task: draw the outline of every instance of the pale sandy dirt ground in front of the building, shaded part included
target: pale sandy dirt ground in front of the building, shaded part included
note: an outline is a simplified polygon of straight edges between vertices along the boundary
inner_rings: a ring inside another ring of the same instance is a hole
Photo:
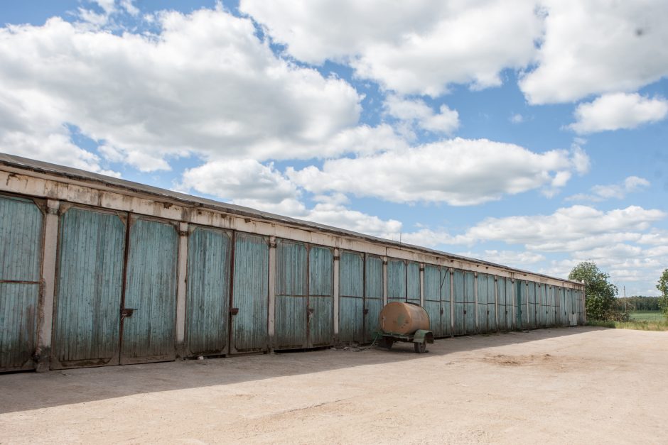
[[[668,443],[668,332],[0,375],[0,443]]]

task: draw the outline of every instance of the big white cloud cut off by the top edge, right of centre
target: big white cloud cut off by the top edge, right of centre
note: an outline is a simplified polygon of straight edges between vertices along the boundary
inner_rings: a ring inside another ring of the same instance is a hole
[[[239,9],[299,60],[348,62],[385,89],[432,97],[453,83],[500,85],[501,70],[532,61],[542,32],[526,0],[244,0]]]

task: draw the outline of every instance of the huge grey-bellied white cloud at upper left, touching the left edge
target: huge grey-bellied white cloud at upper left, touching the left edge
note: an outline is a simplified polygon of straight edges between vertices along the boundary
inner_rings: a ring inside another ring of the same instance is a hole
[[[361,97],[350,84],[276,57],[247,18],[203,9],[158,20],[158,35],[60,18],[0,28],[0,113],[15,116],[1,125],[0,150],[38,153],[58,135],[64,163],[81,166],[65,123],[143,170],[191,153],[267,160],[348,150],[327,142],[352,137]]]

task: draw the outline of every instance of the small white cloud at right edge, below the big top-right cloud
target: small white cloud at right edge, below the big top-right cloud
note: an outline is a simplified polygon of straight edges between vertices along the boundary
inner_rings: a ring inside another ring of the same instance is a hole
[[[643,123],[661,121],[667,114],[666,99],[650,99],[637,93],[610,93],[579,104],[574,113],[576,122],[569,127],[576,133],[632,129]]]

